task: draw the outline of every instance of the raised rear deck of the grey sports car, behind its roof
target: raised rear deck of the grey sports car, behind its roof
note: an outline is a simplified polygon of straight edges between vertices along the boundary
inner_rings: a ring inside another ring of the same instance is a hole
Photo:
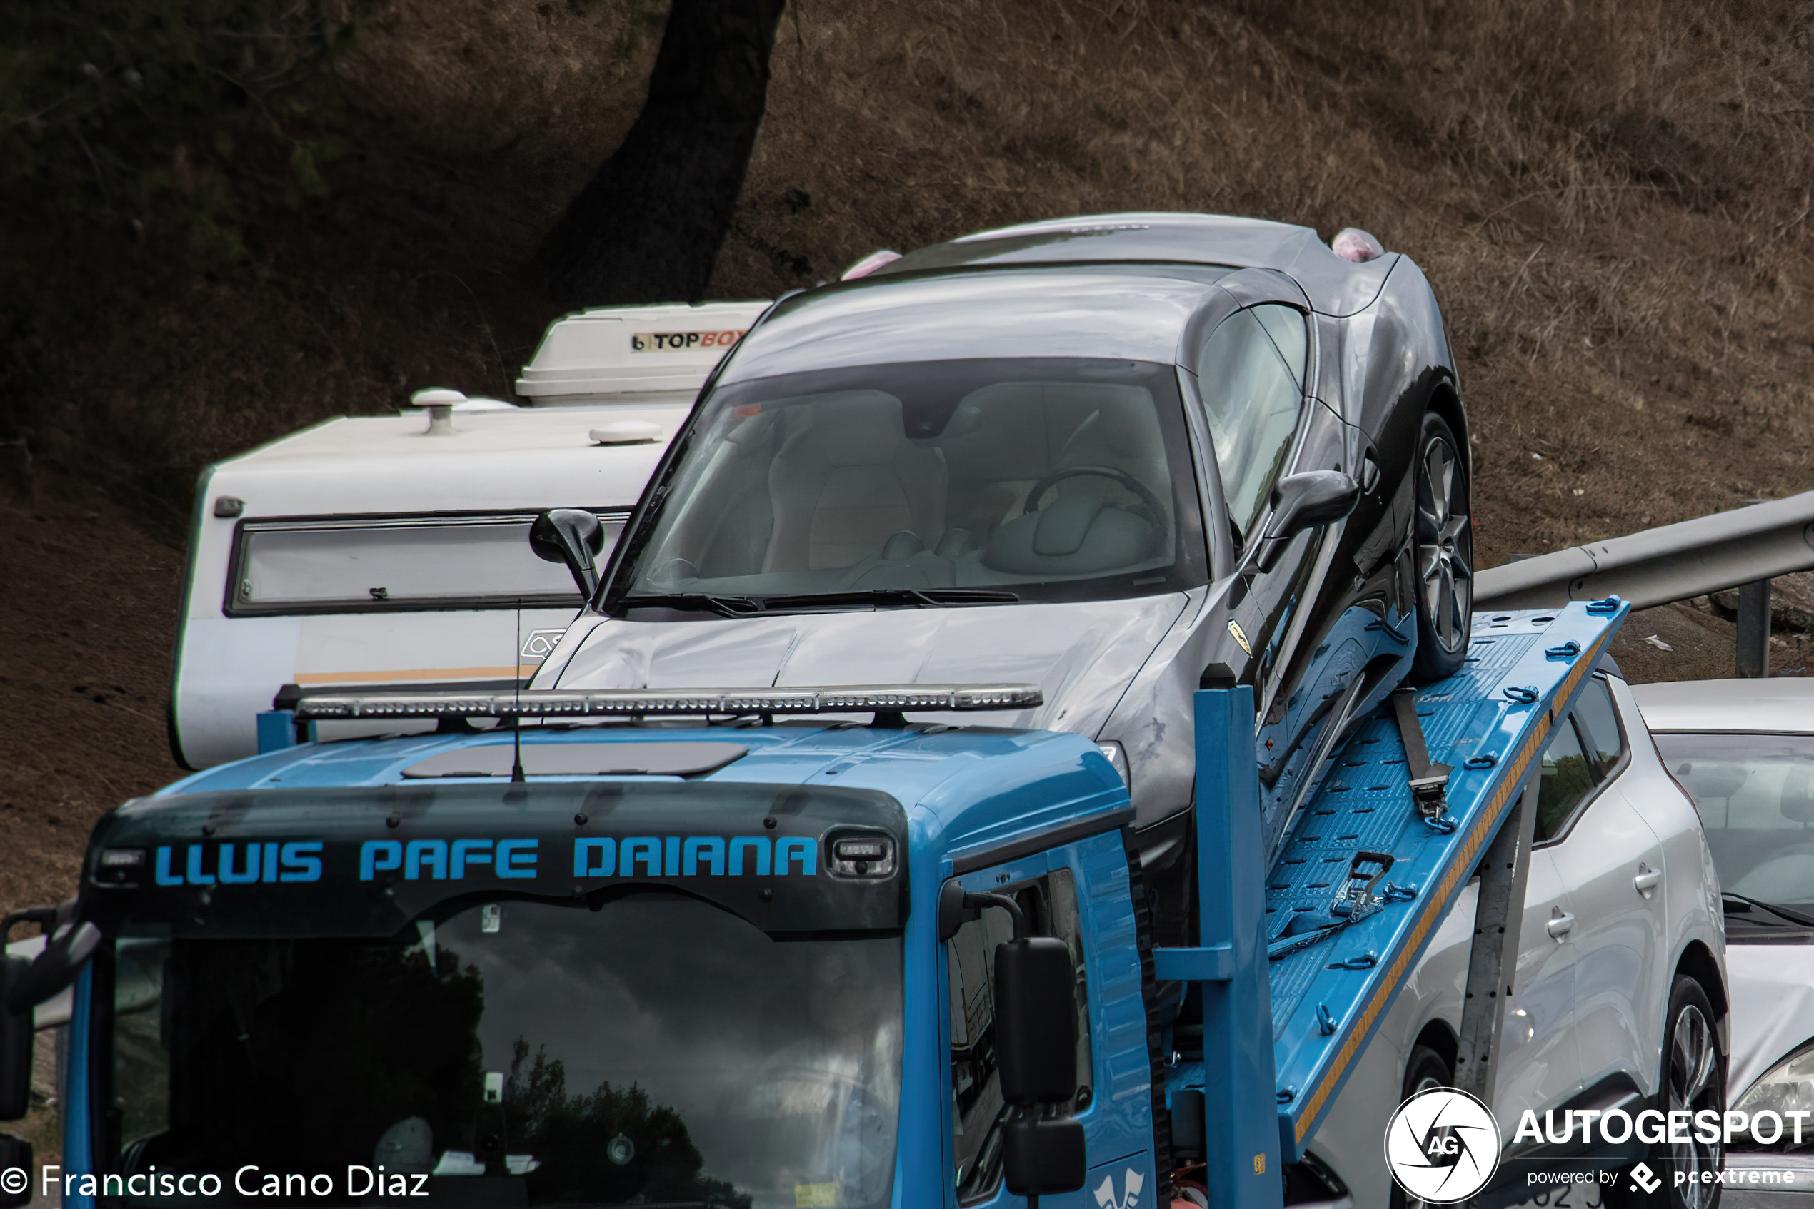
[[[1313,310],[1351,315],[1371,303],[1399,263],[1388,252],[1346,261],[1310,227],[1228,214],[1128,212],[1021,223],[936,243],[878,270],[878,277],[929,268],[1034,263],[1146,263],[1275,268],[1304,290]]]

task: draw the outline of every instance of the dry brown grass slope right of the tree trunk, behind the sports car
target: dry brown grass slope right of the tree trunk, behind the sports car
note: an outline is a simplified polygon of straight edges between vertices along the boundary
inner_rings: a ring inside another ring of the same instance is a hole
[[[1444,301],[1487,556],[1549,549],[1814,486],[1810,85],[1792,4],[807,0],[717,286],[1065,212],[1368,227]]]

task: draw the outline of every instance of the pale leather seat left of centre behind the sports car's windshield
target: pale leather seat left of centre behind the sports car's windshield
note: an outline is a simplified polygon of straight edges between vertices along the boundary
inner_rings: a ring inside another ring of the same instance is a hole
[[[847,567],[909,531],[925,546],[945,531],[945,459],[912,442],[902,404],[882,392],[847,392],[807,404],[769,466],[775,531],[764,571]]]

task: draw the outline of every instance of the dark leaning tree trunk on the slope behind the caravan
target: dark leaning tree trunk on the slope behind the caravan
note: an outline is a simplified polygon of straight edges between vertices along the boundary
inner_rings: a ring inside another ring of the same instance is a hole
[[[551,297],[704,297],[762,125],[784,4],[673,0],[642,114],[542,245]]]

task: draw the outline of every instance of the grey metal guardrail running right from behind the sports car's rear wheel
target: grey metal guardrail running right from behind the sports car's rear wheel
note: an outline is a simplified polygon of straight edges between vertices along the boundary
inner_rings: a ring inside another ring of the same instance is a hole
[[[1475,609],[1558,609],[1618,595],[1633,609],[1814,569],[1814,491],[1475,573]]]

